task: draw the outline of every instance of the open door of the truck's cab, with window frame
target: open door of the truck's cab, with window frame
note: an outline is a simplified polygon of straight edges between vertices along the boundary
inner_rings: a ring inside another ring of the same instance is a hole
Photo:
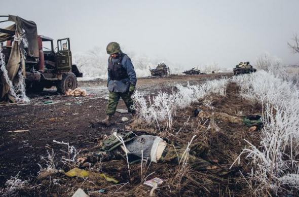
[[[71,71],[71,52],[69,38],[57,40],[56,65],[57,72]]]

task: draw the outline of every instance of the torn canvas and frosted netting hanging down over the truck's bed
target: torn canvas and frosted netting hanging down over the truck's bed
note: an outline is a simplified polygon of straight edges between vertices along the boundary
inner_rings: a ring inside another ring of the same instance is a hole
[[[18,16],[9,15],[9,21],[15,24],[5,29],[15,31],[15,34],[0,33],[0,41],[5,42],[13,38],[12,46],[6,48],[10,50],[10,55],[5,61],[5,55],[1,47],[1,101],[28,102],[25,93],[25,59],[26,56],[39,58],[38,31],[33,21],[26,21]]]

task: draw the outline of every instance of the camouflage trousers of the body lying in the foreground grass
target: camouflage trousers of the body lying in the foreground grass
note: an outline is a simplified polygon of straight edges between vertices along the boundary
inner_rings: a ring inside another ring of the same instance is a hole
[[[170,162],[170,163],[182,163],[184,161],[184,151],[187,145],[173,146],[173,144],[167,146],[167,153],[162,156],[159,162]],[[193,143],[190,145],[190,151],[188,156],[188,163],[193,169],[199,171],[209,171],[211,173],[224,175],[226,174],[223,169],[218,166],[211,164],[207,160],[202,159],[209,155],[209,148],[203,143]]]

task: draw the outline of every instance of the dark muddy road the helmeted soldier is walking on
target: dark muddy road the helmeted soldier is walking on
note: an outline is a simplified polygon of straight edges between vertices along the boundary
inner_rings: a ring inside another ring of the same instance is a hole
[[[155,95],[158,91],[171,93],[176,84],[196,85],[223,76],[230,77],[232,73],[140,78],[137,90],[144,95]],[[41,94],[28,94],[30,103],[0,104],[0,187],[18,173],[22,179],[36,176],[41,156],[46,155],[46,146],[57,146],[53,140],[84,149],[94,146],[100,134],[128,124],[121,122],[121,117],[130,119],[130,115],[117,112],[110,127],[91,127],[90,122],[105,117],[106,81],[79,82],[79,87],[86,89],[90,96],[65,97],[50,89]],[[46,101],[51,103],[44,104]],[[125,109],[123,101],[118,108]],[[17,130],[25,131],[13,132]]]

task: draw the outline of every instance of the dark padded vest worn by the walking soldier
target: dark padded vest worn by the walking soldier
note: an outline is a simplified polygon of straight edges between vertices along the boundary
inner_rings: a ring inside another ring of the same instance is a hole
[[[110,80],[123,80],[124,78],[128,78],[127,70],[122,66],[121,62],[123,60],[123,57],[126,54],[121,53],[121,55],[118,57],[118,60],[116,62],[112,61],[112,57],[109,57],[109,63],[108,63],[108,71]]]

